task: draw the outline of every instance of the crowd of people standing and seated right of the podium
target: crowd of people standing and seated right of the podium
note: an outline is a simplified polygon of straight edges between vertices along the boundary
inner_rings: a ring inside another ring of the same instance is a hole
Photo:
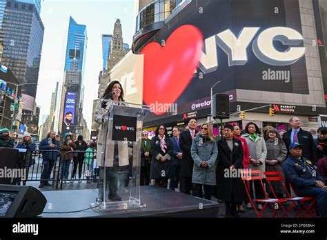
[[[164,125],[158,126],[151,140],[143,131],[141,185],[154,179],[155,186],[179,188],[209,200],[214,196],[226,204],[226,217],[239,217],[244,206],[250,210],[252,205],[241,177],[226,176],[226,172],[260,170],[266,189],[260,180],[248,181],[251,199],[265,199],[266,194],[283,199],[293,186],[293,194],[317,199],[320,216],[327,217],[327,128],[311,134],[301,128],[298,117],[289,123],[288,131],[266,126],[261,133],[250,122],[243,134],[239,126],[226,124],[222,137],[213,135],[211,123],[202,124],[198,132],[197,119],[190,119],[186,130],[172,128],[171,138]],[[271,182],[272,192],[264,172],[280,172],[284,181]],[[256,208],[263,206],[258,202]]]

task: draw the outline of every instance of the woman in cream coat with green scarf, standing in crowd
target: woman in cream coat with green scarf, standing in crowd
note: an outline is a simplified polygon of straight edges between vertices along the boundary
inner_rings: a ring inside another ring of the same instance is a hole
[[[261,176],[264,176],[264,171],[266,170],[266,156],[267,148],[266,141],[262,137],[261,132],[257,124],[250,122],[246,124],[245,134],[242,135],[248,143],[248,151],[250,152],[250,166],[251,170],[261,170]],[[261,187],[259,180],[250,181],[250,196],[253,199],[253,187],[255,186],[255,199],[264,199],[265,195]],[[251,205],[248,203],[247,208],[251,208]],[[262,205],[258,204],[257,208],[262,209]]]

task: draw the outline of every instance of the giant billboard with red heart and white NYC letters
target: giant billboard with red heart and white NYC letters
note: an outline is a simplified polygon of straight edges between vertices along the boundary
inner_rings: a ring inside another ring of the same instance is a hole
[[[231,102],[236,90],[309,94],[305,53],[299,1],[192,1],[139,50],[137,82],[149,106],[175,103],[178,114],[206,115],[217,81],[214,93]]]

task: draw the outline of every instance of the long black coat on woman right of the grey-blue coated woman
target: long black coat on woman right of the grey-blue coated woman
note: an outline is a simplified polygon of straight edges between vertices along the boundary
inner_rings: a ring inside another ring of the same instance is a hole
[[[235,166],[237,170],[243,169],[243,146],[239,139],[232,139],[233,148],[227,145],[226,139],[220,139],[218,145],[218,166],[217,166],[217,199],[232,201],[232,194],[235,202],[248,201],[244,183],[240,177],[230,176],[230,166]],[[230,154],[231,157],[230,157]]]

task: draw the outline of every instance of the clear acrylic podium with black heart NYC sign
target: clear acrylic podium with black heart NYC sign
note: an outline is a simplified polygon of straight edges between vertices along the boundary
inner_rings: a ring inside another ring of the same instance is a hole
[[[126,210],[141,204],[141,132],[148,106],[108,101],[103,119],[103,141],[99,166],[99,192],[90,207],[95,211]],[[98,157],[99,158],[99,157]]]

